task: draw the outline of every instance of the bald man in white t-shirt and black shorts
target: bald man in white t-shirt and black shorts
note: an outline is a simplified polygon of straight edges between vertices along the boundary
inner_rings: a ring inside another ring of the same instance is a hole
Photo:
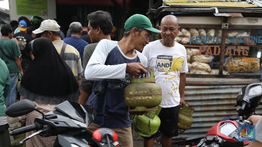
[[[172,137],[178,136],[179,109],[185,104],[187,55],[185,47],[174,41],[180,30],[175,16],[163,17],[159,30],[162,39],[150,42],[142,53],[147,57],[147,66],[154,68],[156,83],[162,88],[159,130],[163,134],[162,146],[171,147]],[[153,147],[154,137],[143,137],[144,147]]]

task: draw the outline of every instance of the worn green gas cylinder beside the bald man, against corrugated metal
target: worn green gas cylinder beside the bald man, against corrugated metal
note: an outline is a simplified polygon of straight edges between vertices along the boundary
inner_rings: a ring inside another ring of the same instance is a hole
[[[178,116],[178,131],[184,133],[185,130],[188,130],[192,123],[193,118],[192,114],[194,112],[194,108],[189,107],[189,104],[183,105],[183,107],[179,110]]]

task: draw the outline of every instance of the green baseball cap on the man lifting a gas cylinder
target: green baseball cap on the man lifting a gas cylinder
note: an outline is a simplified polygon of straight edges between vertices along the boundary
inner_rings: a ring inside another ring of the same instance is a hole
[[[125,32],[132,30],[134,27],[149,30],[152,35],[161,33],[160,30],[153,28],[150,20],[146,16],[141,14],[134,14],[125,21]]]

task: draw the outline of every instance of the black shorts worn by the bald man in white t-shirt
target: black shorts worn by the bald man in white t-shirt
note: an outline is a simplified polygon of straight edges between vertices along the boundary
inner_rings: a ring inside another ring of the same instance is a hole
[[[180,105],[171,108],[162,108],[158,117],[161,120],[159,131],[167,137],[178,136],[178,115]],[[156,136],[157,133],[150,137],[143,137],[144,139],[151,139]]]

